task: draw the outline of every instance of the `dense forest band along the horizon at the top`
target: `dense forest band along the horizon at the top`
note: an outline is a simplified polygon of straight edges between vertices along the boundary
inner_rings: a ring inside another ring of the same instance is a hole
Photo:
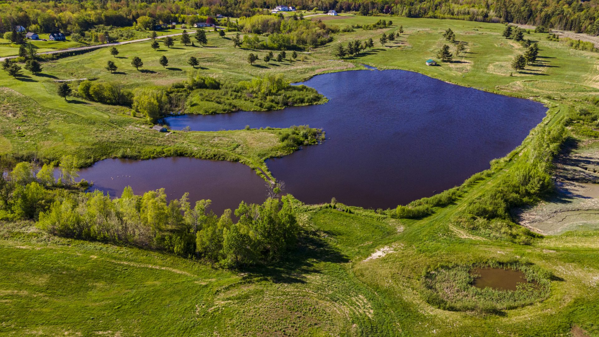
[[[0,31],[16,25],[29,31],[62,31],[80,34],[98,25],[131,26],[138,17],[148,16],[156,22],[185,22],[222,14],[250,17],[274,8],[274,0],[187,0],[160,2],[140,1],[14,1],[0,4]],[[358,11],[362,15],[390,15],[461,19],[480,22],[515,22],[599,34],[599,0],[293,0],[288,5],[298,9]]]

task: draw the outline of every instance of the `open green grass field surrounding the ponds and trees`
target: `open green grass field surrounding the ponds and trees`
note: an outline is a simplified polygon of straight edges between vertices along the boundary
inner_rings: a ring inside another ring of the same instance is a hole
[[[324,22],[344,26],[379,19],[337,16]],[[546,34],[525,34],[539,42],[541,62],[516,74],[509,64],[524,49],[501,37],[503,25],[391,19],[390,28],[335,34],[332,43],[314,49],[305,62],[249,65],[247,55],[256,51],[233,48],[229,38],[234,33],[228,32],[226,38],[208,33],[208,47],[176,44],[154,51],[149,43],[136,43],[119,47],[119,58],[100,49],[45,63],[43,76],[28,74],[19,80],[2,73],[0,87],[10,89],[0,93],[5,102],[0,152],[99,154],[87,158],[94,161],[169,155],[169,149],[177,148],[201,158],[213,152],[226,154],[221,159],[255,166],[263,166],[266,157],[285,154],[277,152],[279,130],[150,133],[124,108],[66,103],[55,94],[52,82],[97,77],[128,88],[169,85],[186,77],[190,67],[185,61],[191,55],[200,60],[202,73],[232,81],[284,73],[295,82],[318,73],[359,69],[360,64],[418,71],[458,85],[541,101],[549,108],[543,125],[562,124],[568,110],[576,107],[573,98],[599,94],[599,54],[544,40]],[[400,41],[380,46],[380,35],[400,25],[405,31]],[[426,66],[426,59],[435,58],[438,47],[446,43],[441,33],[447,28],[467,43],[466,53],[456,58],[459,62]],[[362,56],[343,61],[332,56],[335,44],[370,37],[375,47]],[[266,53],[257,52],[261,57]],[[161,55],[168,57],[168,68],[176,69],[162,68]],[[143,69],[150,72],[131,67],[132,56],[142,58]],[[123,74],[104,70],[109,59]],[[16,128],[26,137],[17,136]],[[515,166],[534,135],[501,170],[420,220],[391,219],[358,207],[350,207],[354,212],[350,214],[298,204],[304,228],[299,248],[288,263],[269,268],[230,272],[160,252],[60,239],[39,232],[29,222],[2,224],[0,334],[599,336],[597,231],[567,232],[518,245],[477,236],[450,222]],[[227,140],[211,142],[222,138]],[[423,271],[485,261],[540,266],[555,275],[549,297],[501,315],[479,315],[437,309],[420,296]]]

